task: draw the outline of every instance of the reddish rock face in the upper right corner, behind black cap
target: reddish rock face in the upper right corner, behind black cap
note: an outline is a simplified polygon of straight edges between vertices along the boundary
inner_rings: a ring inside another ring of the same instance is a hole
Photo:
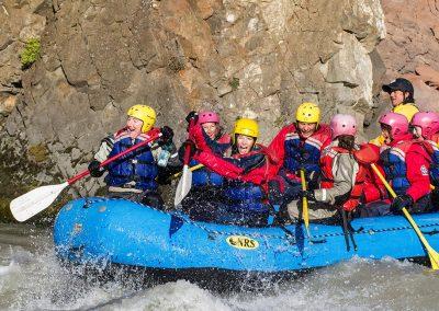
[[[376,50],[386,67],[383,82],[409,79],[416,104],[439,111],[439,0],[383,0],[387,35]],[[381,110],[389,96],[381,94]]]

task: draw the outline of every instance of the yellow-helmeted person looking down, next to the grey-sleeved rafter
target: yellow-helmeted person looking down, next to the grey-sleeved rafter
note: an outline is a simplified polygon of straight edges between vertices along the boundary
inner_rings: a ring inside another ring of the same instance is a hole
[[[302,191],[301,170],[305,172],[308,188],[318,187],[320,152],[330,141],[329,126],[320,124],[320,110],[316,104],[301,104],[295,119],[294,124],[282,128],[268,147],[270,154],[277,154],[279,164],[279,176],[269,182],[270,203],[280,206],[280,215],[286,218],[286,205],[299,199]]]

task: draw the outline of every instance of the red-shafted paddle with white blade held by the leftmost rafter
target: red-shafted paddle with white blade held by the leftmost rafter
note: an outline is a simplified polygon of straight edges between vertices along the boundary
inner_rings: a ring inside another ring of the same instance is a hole
[[[99,166],[100,168],[105,166],[110,162],[113,162],[119,158],[125,156],[126,153],[130,153],[133,150],[136,150],[137,148],[156,140],[160,136],[161,134],[157,130],[156,133],[153,133],[153,136],[149,139],[144,140],[137,145],[134,145],[133,147],[126,149],[125,151],[110,159],[106,159]],[[72,185],[74,183],[76,183],[77,181],[89,174],[90,171],[86,170],[61,184],[37,187],[29,193],[25,193],[24,195],[14,198],[10,204],[12,216],[18,221],[25,221],[30,219],[31,217],[37,215],[38,212],[49,207],[52,203],[58,197],[58,195],[63,192],[64,188],[66,188],[69,185]]]

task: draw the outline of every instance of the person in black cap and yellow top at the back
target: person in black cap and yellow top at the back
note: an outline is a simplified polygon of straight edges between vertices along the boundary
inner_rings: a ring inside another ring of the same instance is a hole
[[[402,114],[410,122],[413,116],[419,112],[419,108],[415,105],[415,90],[407,79],[397,78],[391,83],[384,84],[382,90],[390,96],[393,113]],[[384,145],[384,137],[380,135],[370,142],[380,147]]]

